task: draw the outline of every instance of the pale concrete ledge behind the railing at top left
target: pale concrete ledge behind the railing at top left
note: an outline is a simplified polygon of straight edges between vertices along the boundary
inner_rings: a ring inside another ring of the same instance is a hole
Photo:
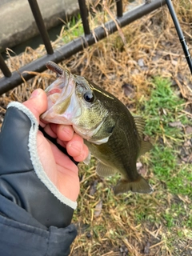
[[[38,0],[46,29],[78,13],[78,0]],[[38,34],[28,1],[0,0],[0,52]]]

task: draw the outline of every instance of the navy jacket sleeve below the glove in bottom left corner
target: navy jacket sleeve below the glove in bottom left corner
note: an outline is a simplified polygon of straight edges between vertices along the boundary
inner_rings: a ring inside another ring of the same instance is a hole
[[[47,228],[26,210],[0,195],[0,255],[1,256],[66,256],[77,231]]]

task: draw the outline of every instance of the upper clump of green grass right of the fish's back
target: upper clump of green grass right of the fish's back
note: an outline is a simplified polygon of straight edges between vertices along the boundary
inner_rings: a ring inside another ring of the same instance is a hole
[[[182,122],[185,125],[189,122],[184,114],[181,115],[185,101],[174,93],[168,79],[154,78],[153,86],[150,100],[143,102],[145,110],[142,114],[147,120],[146,133],[178,141],[182,139],[181,129],[170,127],[169,123]]]

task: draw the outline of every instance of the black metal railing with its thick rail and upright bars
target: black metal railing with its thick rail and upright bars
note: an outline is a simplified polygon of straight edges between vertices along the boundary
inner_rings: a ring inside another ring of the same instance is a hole
[[[123,14],[122,0],[118,0],[116,2],[116,20],[118,22],[118,26],[123,27],[130,24],[130,22],[134,22],[136,19],[141,18],[146,14],[149,14],[153,10],[158,9],[159,7],[164,5],[166,1],[167,0],[154,0],[152,2],[138,6],[134,10],[130,10]],[[36,0],[28,0],[28,2],[30,4],[31,11],[34,14],[34,19],[38,26],[39,33],[42,36],[42,40],[46,47],[47,54],[42,56],[42,58],[38,58],[37,60],[30,62],[30,64],[27,64],[26,66],[22,66],[19,70],[12,73],[10,72],[8,66],[6,66],[6,62],[0,54],[0,68],[2,70],[2,73],[4,74],[4,77],[0,79],[0,94],[3,94],[6,91],[20,85],[23,82],[23,78],[27,81],[30,78],[34,77],[34,74],[26,72],[23,73],[23,71],[42,72],[46,70],[46,62],[62,62],[62,60],[64,60],[65,58],[69,58],[73,54],[78,53],[78,51],[93,45],[96,42],[95,38],[98,42],[118,30],[115,22],[113,20],[110,20],[110,22],[106,22],[104,26],[98,26],[96,29],[94,29],[93,34],[90,31],[90,25],[88,21],[89,12],[86,8],[86,0],[78,0],[84,35],[82,37],[74,39],[72,42],[67,43],[65,46],[61,46],[57,50],[53,50],[50,43],[49,35],[47,34],[46,27],[42,19],[41,11],[38,7],[38,2]]]

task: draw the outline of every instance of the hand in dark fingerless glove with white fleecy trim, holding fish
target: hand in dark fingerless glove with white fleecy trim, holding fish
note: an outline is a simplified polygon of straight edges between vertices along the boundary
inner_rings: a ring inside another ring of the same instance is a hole
[[[89,150],[72,126],[41,122],[46,109],[41,89],[23,104],[7,106],[0,132],[0,200],[3,195],[11,207],[22,207],[22,213],[16,210],[20,217],[27,213],[46,227],[65,227],[77,207],[77,163]]]

